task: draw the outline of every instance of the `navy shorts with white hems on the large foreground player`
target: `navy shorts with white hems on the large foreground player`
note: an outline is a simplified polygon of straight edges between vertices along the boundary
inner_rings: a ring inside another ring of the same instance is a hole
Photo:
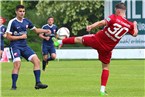
[[[11,47],[10,48],[13,62],[20,61],[20,57],[24,57],[26,60],[31,60],[30,57],[35,55],[35,52],[29,47]]]

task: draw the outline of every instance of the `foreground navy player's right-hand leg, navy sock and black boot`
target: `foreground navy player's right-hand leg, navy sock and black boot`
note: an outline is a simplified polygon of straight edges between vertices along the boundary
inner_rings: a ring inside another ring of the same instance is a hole
[[[48,85],[42,84],[40,81],[40,75],[41,75],[41,71],[40,71],[40,60],[37,57],[36,54],[31,55],[29,57],[29,60],[34,64],[34,76],[35,76],[35,80],[36,80],[36,85],[35,85],[35,89],[45,89],[48,87]]]

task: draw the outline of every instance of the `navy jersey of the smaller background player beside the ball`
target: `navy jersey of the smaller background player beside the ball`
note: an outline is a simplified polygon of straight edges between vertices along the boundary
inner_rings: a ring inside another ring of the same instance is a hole
[[[53,45],[52,37],[55,36],[56,31],[58,30],[57,26],[54,25],[54,24],[52,26],[50,26],[48,24],[45,24],[45,25],[42,26],[42,29],[49,29],[49,30],[51,30],[51,34],[50,35],[46,35],[45,33],[43,34],[44,36],[49,36],[50,37],[50,39],[48,41],[43,39],[43,45]]]

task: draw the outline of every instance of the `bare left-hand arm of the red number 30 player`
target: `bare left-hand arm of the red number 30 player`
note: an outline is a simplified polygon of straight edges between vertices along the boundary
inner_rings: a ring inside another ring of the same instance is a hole
[[[98,21],[98,22],[95,22],[94,24],[92,25],[88,25],[86,27],[87,31],[91,31],[92,29],[96,28],[96,27],[101,27],[101,26],[106,26],[106,21],[105,20],[101,20],[101,21]]]

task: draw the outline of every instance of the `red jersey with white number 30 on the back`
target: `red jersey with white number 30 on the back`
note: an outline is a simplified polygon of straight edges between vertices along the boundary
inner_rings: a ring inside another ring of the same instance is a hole
[[[106,51],[111,51],[126,33],[134,34],[133,23],[121,16],[112,14],[105,20],[107,26],[97,32],[95,37]]]

